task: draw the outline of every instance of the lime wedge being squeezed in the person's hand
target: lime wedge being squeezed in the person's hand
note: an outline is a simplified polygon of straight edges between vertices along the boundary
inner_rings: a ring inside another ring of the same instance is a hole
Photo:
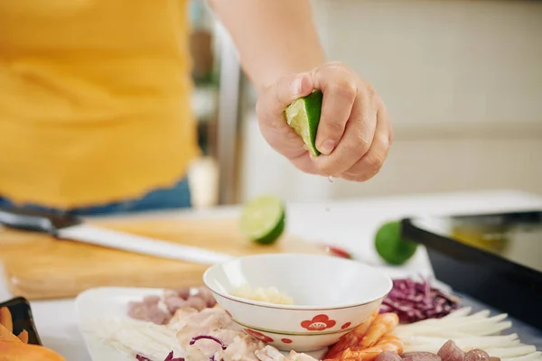
[[[322,98],[322,92],[314,90],[310,95],[296,99],[285,110],[286,122],[297,135],[301,136],[307,149],[314,156],[320,155],[315,142],[322,113]]]

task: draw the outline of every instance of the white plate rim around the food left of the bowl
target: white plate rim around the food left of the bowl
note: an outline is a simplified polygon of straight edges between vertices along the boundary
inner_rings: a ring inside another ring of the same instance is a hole
[[[96,329],[93,329],[96,327],[94,320],[103,317],[127,319],[129,301],[141,301],[147,295],[161,295],[163,292],[163,289],[156,288],[126,287],[100,287],[81,292],[75,300],[75,311],[79,330],[85,339],[92,361],[135,361],[134,356],[126,355],[115,347],[102,343],[95,334]],[[318,359],[323,356],[311,355]]]

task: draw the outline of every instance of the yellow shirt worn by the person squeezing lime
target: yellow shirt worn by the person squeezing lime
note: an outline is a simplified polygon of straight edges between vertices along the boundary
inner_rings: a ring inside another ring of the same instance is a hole
[[[0,197],[71,208],[198,153],[185,0],[0,1]]]

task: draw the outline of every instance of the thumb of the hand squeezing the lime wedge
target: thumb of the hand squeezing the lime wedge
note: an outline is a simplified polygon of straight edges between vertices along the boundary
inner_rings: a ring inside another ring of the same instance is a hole
[[[264,90],[259,98],[260,106],[263,106],[261,110],[268,115],[282,115],[286,106],[311,94],[313,87],[313,78],[308,72],[286,75]]]

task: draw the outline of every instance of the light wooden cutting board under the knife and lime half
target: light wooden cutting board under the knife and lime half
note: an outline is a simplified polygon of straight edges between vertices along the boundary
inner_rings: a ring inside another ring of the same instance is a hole
[[[233,249],[238,249],[239,252],[242,252],[242,254],[235,256],[268,253],[325,254],[319,245],[307,242],[303,237],[290,234],[287,231],[275,245],[255,248],[254,245],[247,244],[248,241],[244,237],[238,235],[237,227],[234,227],[231,219],[224,218],[211,219],[209,221],[201,220],[199,222],[192,222],[192,219],[184,219],[183,221],[175,219],[171,223],[164,220],[159,222],[151,220],[149,222],[148,220],[145,221],[145,219],[136,219],[134,225],[122,221],[120,225],[114,221],[99,223],[103,226],[110,226],[113,229],[125,228],[124,226],[126,225],[130,226],[126,228],[133,229],[134,231],[140,229],[142,232],[152,233],[152,230],[156,229],[158,234],[167,235],[168,232],[171,233],[173,241],[182,242],[183,239],[188,239],[189,242],[197,244],[198,240],[201,240],[201,245],[222,248],[221,251],[225,250],[224,245],[231,244]],[[137,232],[134,233],[137,234]],[[107,260],[102,268],[104,271],[97,272],[96,268],[99,267],[98,261],[87,263],[84,268],[81,268],[79,261],[73,259],[72,255],[76,255],[75,253],[79,255],[85,254],[88,250],[83,250],[84,247],[92,247],[93,250],[101,247],[80,244],[76,249],[72,247],[73,244],[71,243],[59,243],[58,245],[61,245],[62,250],[57,249],[57,247],[49,248],[47,246],[43,247],[43,249],[37,248],[39,251],[34,252],[34,254],[39,258],[31,260],[25,256],[33,254],[32,252],[28,252],[27,247],[32,246],[33,242],[41,242],[42,239],[49,239],[49,236],[24,231],[12,232],[12,230],[5,229],[0,229],[0,236],[4,236],[4,239],[0,238],[0,245],[10,245],[10,247],[15,245],[13,251],[0,256],[0,270],[4,271],[2,275],[5,278],[7,289],[14,295],[22,296],[32,301],[70,299],[76,297],[80,292],[107,286],[138,288],[201,286],[203,284],[203,273],[209,267],[209,265],[193,264],[192,266],[185,265],[177,269],[175,265],[169,263],[169,260],[168,265],[147,263],[143,258],[132,261],[124,259],[122,251],[107,250],[107,255],[104,254],[106,257],[104,260]],[[55,242],[59,241],[56,240]],[[277,244],[278,246],[276,246]],[[49,259],[49,252],[54,254],[51,255],[51,259]],[[117,255],[110,257],[113,252]],[[55,255],[59,258],[54,258]],[[96,253],[93,253],[93,256],[97,256]],[[98,256],[101,256],[101,254]],[[111,258],[114,258],[114,261],[111,261]],[[18,262],[17,259],[23,259],[23,261]],[[44,259],[49,260],[47,263],[44,263]],[[119,261],[118,267],[116,267],[117,259]],[[34,261],[38,263],[36,264]],[[67,261],[70,261],[70,263],[64,263]],[[135,265],[134,262],[136,263]],[[139,262],[141,262],[142,274],[139,274]],[[51,272],[49,272],[47,264],[50,264]],[[5,268],[6,265],[8,268]],[[152,271],[145,273],[145,267]],[[53,282],[51,282],[51,279]]]

